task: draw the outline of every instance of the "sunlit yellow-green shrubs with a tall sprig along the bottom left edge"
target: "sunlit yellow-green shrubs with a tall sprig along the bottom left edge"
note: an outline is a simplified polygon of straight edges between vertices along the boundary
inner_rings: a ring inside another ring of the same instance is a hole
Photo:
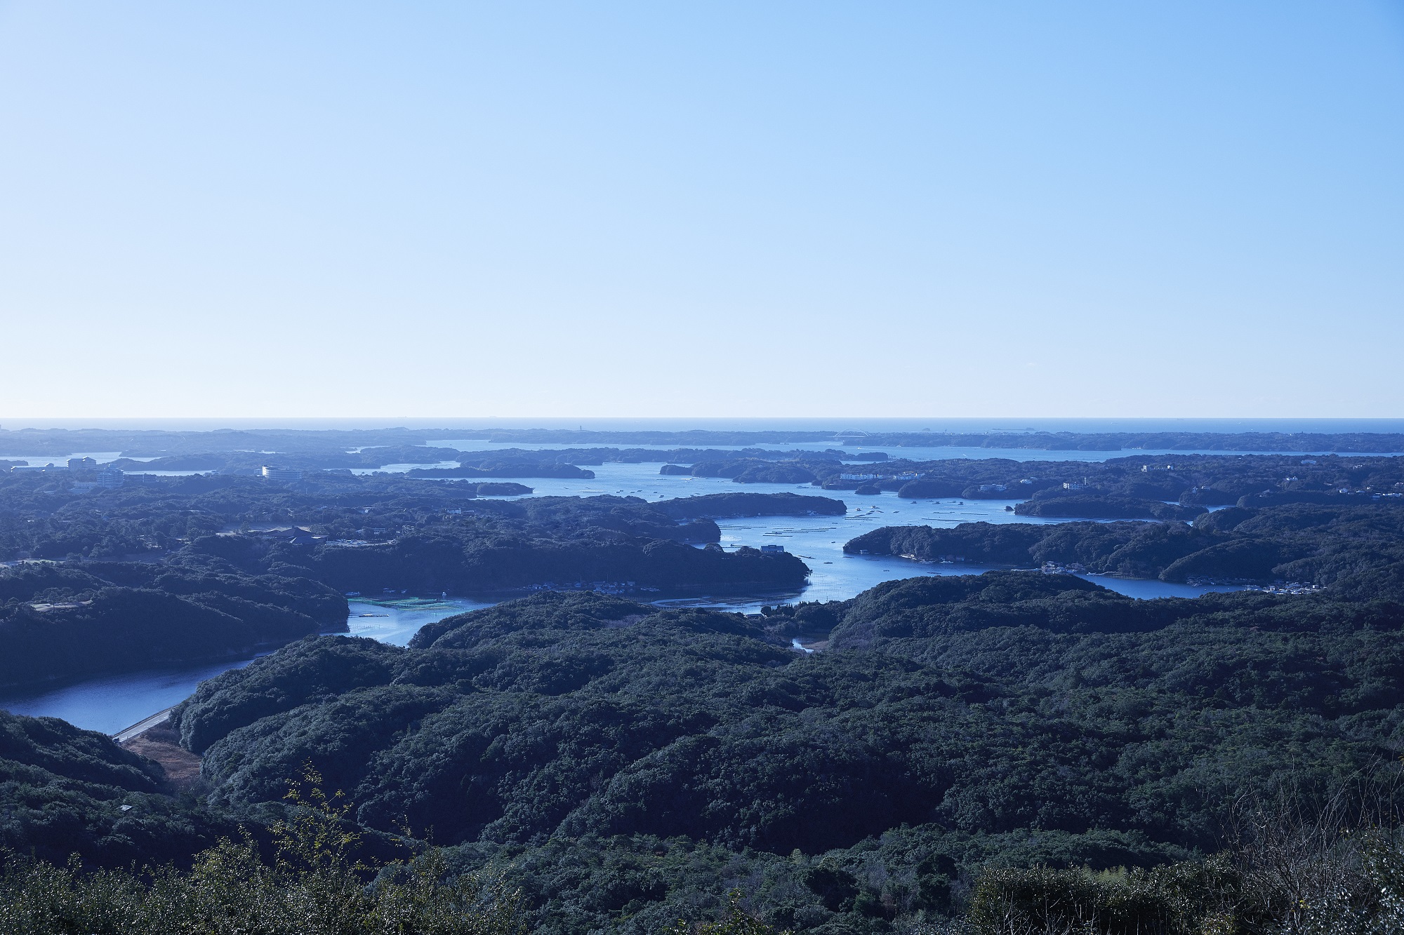
[[[4,935],[519,935],[519,893],[491,873],[446,879],[437,851],[371,868],[352,854],[348,804],[320,776],[291,783],[288,818],[265,862],[251,838],[223,840],[188,870],[87,872],[8,856]]]

